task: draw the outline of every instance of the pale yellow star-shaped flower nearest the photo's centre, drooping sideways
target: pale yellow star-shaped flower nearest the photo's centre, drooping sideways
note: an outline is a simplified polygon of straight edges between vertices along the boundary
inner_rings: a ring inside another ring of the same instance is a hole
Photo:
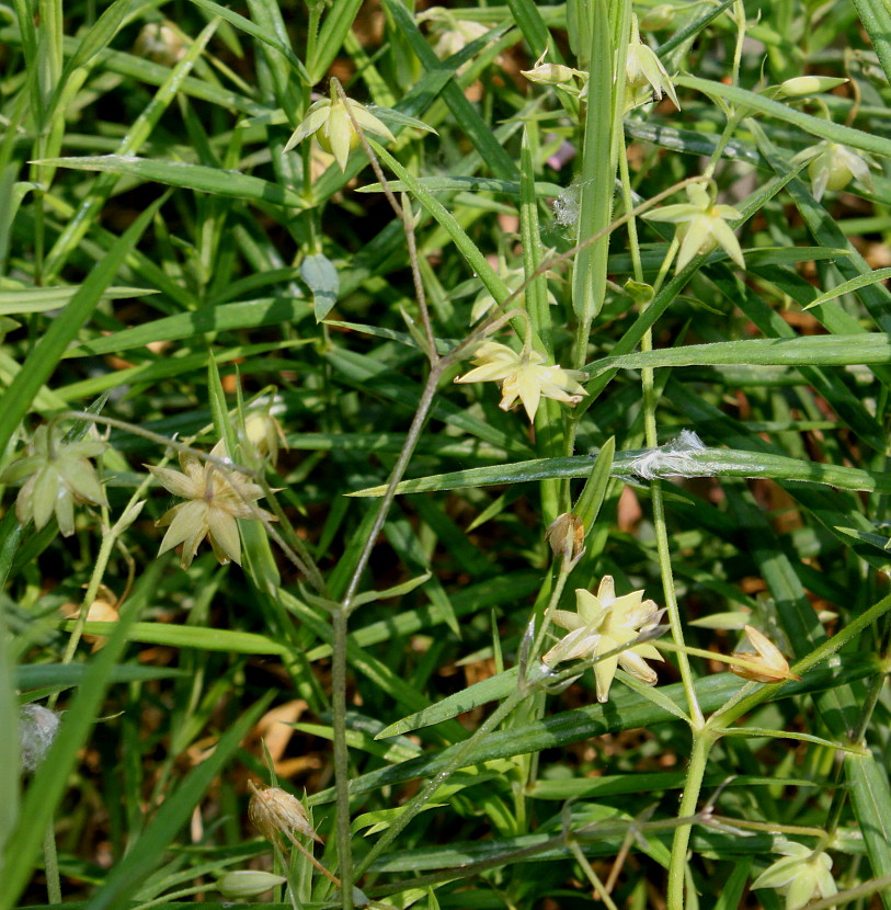
[[[578,405],[582,397],[587,395],[579,384],[579,379],[587,378],[585,373],[547,364],[544,354],[526,346],[517,354],[506,344],[487,341],[477,351],[471,363],[476,369],[458,376],[455,382],[501,383],[502,398],[499,407],[503,411],[510,410],[518,398],[529,421],[535,420],[542,396],[556,401],[566,401],[568,405]]]

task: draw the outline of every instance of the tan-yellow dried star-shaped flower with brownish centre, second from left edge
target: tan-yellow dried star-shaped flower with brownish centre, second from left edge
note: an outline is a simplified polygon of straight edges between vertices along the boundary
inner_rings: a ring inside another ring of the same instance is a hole
[[[219,452],[222,450],[216,448],[212,454]],[[198,544],[205,537],[221,564],[241,565],[241,538],[236,519],[274,521],[269,512],[254,505],[264,496],[262,487],[250,482],[243,474],[202,462],[190,453],[180,454],[182,471],[152,465],[146,467],[170,492],[189,500],[174,505],[157,522],[159,526],[170,525],[158,555],[182,544],[181,565],[184,569],[192,565]]]

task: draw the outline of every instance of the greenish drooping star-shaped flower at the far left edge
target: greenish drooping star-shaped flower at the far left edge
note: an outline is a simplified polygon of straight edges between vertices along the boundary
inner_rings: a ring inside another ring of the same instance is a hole
[[[57,429],[46,424],[34,431],[25,454],[0,475],[4,484],[28,479],[15,500],[15,516],[21,524],[34,519],[39,531],[55,512],[62,536],[75,533],[75,503],[107,505],[105,490],[95,468],[88,460],[105,450],[99,440],[65,442]]]

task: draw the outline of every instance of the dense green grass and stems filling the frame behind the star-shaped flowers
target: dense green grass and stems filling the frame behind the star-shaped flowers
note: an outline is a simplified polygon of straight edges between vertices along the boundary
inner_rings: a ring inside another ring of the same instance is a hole
[[[54,419],[108,441],[72,536],[19,523],[20,481],[2,500],[0,908],[214,906],[224,872],[273,867],[279,906],[362,905],[273,855],[249,781],[305,798],[375,906],[773,910],[752,885],[785,837],[827,850],[837,906],[891,907],[891,19],[636,3],[678,112],[625,110],[631,12],[0,5],[3,466]],[[586,98],[521,75],[546,49]],[[806,73],[849,81],[768,88]],[[330,76],[402,115],[375,110],[377,173],[283,151]],[[871,179],[815,198],[821,141]],[[704,173],[744,271],[719,248],[675,274],[671,224],[608,230]],[[453,384],[483,297],[499,342],[584,371],[581,403],[530,426]],[[682,430],[705,447],[647,476]],[[183,569],[144,466],[220,440],[278,521],[241,522],[241,568],[204,544]],[[569,511],[573,565],[545,538]],[[669,607],[659,685],[524,682],[551,645],[530,619],[604,576]],[[800,681],[711,657],[744,623]],[[27,703],[62,712],[34,773]]]

